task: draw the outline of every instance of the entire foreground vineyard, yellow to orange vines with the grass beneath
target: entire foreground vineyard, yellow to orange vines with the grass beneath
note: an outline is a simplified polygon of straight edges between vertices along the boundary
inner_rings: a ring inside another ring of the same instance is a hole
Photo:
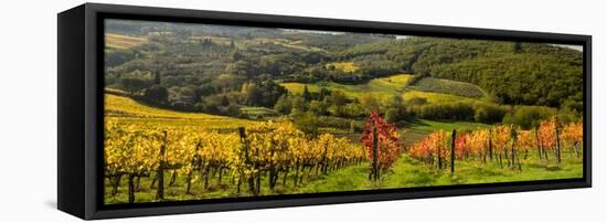
[[[134,106],[127,108],[150,114]],[[560,179],[579,174],[583,157],[582,124],[557,119],[532,130],[436,130],[404,145],[406,132],[379,113],[368,117],[360,142],[307,136],[290,123],[213,129],[131,118],[106,118],[107,203]]]

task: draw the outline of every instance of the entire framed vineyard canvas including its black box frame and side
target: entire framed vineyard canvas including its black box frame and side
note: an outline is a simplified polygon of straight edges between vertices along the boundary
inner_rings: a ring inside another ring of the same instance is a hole
[[[106,219],[589,188],[589,35],[86,3],[60,210]]]

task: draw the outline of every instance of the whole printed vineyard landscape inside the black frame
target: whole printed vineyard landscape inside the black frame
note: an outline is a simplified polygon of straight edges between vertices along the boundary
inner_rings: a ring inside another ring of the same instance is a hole
[[[583,51],[107,20],[104,203],[584,177]]]

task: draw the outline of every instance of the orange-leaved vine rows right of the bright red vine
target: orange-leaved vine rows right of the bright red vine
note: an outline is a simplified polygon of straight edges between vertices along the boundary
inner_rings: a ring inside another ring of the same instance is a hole
[[[456,161],[467,160],[480,163],[496,162],[500,168],[523,171],[522,162],[533,157],[562,162],[567,148],[569,157],[581,158],[583,127],[579,123],[563,126],[558,119],[544,120],[534,130],[520,130],[514,126],[498,125],[490,129],[478,129],[448,134],[435,131],[408,148],[408,155],[437,170],[449,168],[455,172]]]

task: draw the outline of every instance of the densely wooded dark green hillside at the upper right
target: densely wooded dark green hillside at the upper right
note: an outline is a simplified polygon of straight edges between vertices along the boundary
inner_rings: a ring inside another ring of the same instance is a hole
[[[341,60],[384,55],[407,73],[479,85],[501,104],[583,109],[578,103],[583,56],[572,49],[413,36],[360,44],[334,55]]]

